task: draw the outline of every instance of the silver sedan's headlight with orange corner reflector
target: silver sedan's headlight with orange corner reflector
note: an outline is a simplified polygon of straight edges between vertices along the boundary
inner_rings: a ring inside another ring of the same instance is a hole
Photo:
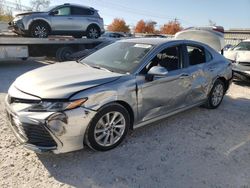
[[[71,110],[80,107],[87,101],[87,98],[78,99],[69,102],[46,102],[42,101],[39,104],[32,105],[28,111],[32,112],[59,112],[64,110]]]

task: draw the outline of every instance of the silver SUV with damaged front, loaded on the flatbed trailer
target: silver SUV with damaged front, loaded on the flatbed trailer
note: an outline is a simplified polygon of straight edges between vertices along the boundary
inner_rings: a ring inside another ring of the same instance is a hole
[[[19,35],[47,38],[48,35],[72,35],[98,38],[104,33],[103,19],[92,7],[63,4],[41,12],[17,14],[10,28]]]

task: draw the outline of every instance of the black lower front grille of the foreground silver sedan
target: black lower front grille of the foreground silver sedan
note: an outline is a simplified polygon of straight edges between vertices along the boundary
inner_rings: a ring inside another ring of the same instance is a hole
[[[11,126],[26,143],[41,147],[56,147],[57,144],[43,125],[24,124],[9,115]]]

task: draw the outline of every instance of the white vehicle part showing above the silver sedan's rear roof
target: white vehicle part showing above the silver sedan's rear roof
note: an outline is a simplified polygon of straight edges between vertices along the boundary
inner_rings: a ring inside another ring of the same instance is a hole
[[[225,46],[224,28],[221,26],[190,27],[176,33],[175,38],[202,42],[220,53]]]

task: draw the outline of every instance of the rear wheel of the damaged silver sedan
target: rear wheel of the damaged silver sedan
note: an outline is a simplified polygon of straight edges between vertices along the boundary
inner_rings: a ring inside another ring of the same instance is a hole
[[[218,108],[223,100],[225,91],[226,88],[224,82],[217,79],[208,95],[207,102],[204,106],[208,109]]]

